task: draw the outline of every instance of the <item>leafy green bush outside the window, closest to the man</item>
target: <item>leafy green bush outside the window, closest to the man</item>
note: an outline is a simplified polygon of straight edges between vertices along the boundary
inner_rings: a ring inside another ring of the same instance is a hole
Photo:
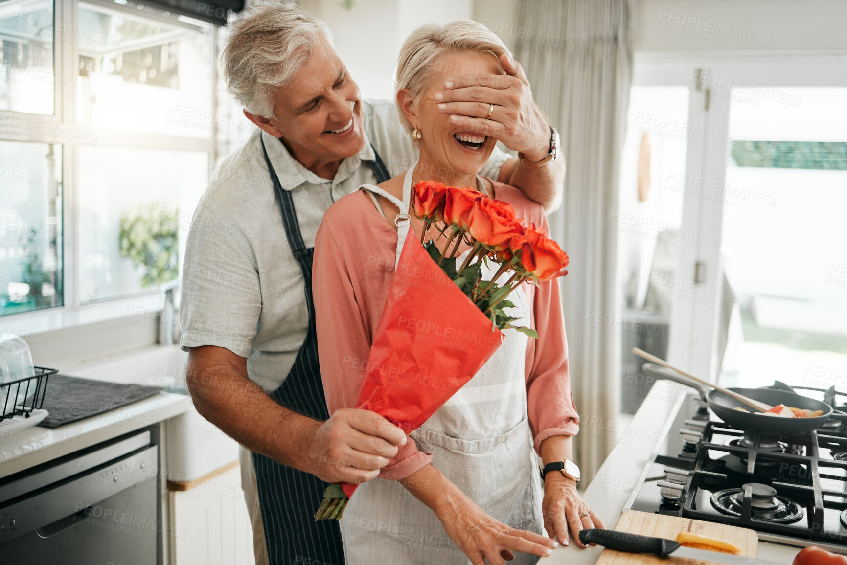
[[[164,204],[133,208],[120,217],[120,256],[143,266],[141,286],[161,285],[179,275],[179,209]]]

